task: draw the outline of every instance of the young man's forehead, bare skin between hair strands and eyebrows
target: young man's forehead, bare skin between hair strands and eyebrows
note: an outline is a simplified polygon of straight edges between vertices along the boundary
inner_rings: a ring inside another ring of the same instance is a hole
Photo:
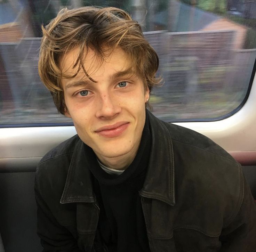
[[[82,67],[79,69],[79,64],[75,65],[79,56],[80,48],[75,48],[68,51],[60,60],[59,65],[63,75],[70,78],[74,74],[84,75]],[[100,57],[92,49],[83,55],[81,64],[86,73],[91,75],[104,75],[106,72],[104,66],[107,66],[107,72],[121,72],[132,67],[129,56],[121,48],[106,49],[104,57]]]

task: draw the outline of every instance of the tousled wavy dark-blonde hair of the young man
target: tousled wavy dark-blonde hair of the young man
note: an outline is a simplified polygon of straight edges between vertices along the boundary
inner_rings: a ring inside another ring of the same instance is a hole
[[[151,90],[161,81],[155,76],[159,65],[157,53],[145,40],[141,26],[121,9],[62,9],[46,27],[42,26],[42,32],[38,71],[62,114],[65,113],[66,107],[61,78],[74,77],[82,69],[93,81],[83,67],[88,49],[92,49],[103,61],[108,53],[106,48],[120,47],[128,55],[131,65],[136,67],[145,88],[149,87]],[[78,71],[73,76],[65,76],[59,66],[59,60],[74,48],[79,48],[73,66],[78,66]]]

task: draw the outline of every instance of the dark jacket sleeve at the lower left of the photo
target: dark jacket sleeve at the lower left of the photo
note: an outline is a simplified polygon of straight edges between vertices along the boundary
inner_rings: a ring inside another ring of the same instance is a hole
[[[41,239],[43,252],[81,252],[77,241],[65,227],[61,226],[51,213],[46,202],[39,193],[35,180],[35,200],[37,202],[37,233]]]

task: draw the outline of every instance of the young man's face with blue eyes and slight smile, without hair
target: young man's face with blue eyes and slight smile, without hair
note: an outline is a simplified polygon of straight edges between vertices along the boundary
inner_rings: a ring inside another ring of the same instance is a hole
[[[73,49],[61,59],[66,74],[78,55]],[[131,70],[126,53],[116,48],[99,64],[94,51],[89,50],[84,68],[77,76],[62,79],[66,116],[70,116],[82,141],[90,146],[100,160],[134,155],[137,152],[145,123],[145,103],[149,89]],[[128,71],[127,71],[128,70]]]

